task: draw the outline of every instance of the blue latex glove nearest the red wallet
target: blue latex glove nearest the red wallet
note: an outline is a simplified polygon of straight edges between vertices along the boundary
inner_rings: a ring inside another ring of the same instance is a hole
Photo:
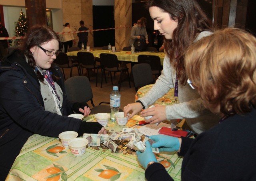
[[[153,135],[149,137],[156,143],[152,144],[153,148],[159,148],[159,151],[177,151],[180,148],[179,139],[167,135]]]

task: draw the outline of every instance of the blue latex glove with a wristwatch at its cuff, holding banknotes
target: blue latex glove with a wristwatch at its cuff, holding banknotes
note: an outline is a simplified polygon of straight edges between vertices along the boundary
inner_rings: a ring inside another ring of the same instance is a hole
[[[156,157],[155,157],[154,153],[152,152],[151,145],[148,141],[146,141],[146,150],[144,151],[144,153],[142,153],[140,151],[136,151],[136,154],[137,154],[140,164],[144,168],[147,168],[148,163],[150,161],[157,162]]]

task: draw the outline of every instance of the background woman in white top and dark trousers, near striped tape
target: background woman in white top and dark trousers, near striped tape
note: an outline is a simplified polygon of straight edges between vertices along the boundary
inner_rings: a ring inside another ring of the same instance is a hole
[[[73,33],[68,33],[72,31],[72,29],[70,28],[70,24],[66,23],[64,26],[65,27],[62,30],[62,32],[64,32],[64,34],[62,34],[62,39],[63,39],[63,45],[64,45],[64,52],[67,53],[68,47],[70,48],[73,46],[73,41],[75,38]]]

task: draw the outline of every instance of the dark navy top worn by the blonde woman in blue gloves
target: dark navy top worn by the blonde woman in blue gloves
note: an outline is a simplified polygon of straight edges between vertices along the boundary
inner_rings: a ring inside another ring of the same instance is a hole
[[[256,109],[230,116],[196,139],[182,137],[182,181],[256,181]],[[160,163],[145,172],[148,181],[173,180]]]

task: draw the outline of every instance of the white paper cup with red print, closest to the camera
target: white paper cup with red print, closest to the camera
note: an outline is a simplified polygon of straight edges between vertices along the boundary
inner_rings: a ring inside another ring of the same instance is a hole
[[[82,156],[86,151],[87,144],[88,140],[85,138],[74,138],[68,142],[71,153],[75,156]]]

